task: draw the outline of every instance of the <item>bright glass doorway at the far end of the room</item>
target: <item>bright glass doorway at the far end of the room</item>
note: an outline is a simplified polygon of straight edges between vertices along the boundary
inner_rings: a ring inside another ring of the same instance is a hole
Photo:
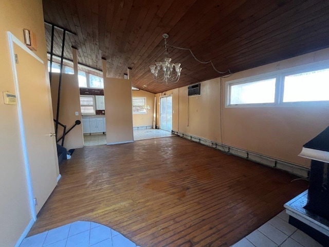
[[[160,98],[160,129],[171,132],[173,128],[173,97]]]

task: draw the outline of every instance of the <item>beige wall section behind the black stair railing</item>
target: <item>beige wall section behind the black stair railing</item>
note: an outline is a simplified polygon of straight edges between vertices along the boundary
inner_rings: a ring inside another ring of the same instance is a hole
[[[58,99],[58,84],[59,74],[52,73],[51,77],[51,98],[52,98],[52,110],[53,116],[56,118],[57,114],[57,99]],[[79,113],[76,116],[76,112]],[[60,102],[60,116],[59,121],[66,125],[66,131],[74,125],[76,120],[81,119],[80,108],[80,90],[77,75],[62,74],[62,86],[61,86],[61,102]],[[63,127],[58,128],[58,137],[63,135]],[[61,144],[62,141],[59,142]],[[69,149],[83,147],[83,133],[82,123],[72,129],[67,136],[65,136],[64,147]]]

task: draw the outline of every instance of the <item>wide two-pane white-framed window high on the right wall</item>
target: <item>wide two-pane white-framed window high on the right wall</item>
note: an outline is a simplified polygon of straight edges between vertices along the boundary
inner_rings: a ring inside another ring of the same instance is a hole
[[[226,82],[226,107],[329,104],[329,65],[313,64]]]

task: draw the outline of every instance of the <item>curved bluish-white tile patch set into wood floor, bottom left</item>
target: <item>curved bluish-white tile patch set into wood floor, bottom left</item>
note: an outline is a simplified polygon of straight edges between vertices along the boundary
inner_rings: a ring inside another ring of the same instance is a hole
[[[44,246],[136,247],[136,244],[107,226],[88,221],[76,221],[25,238],[20,245],[20,247]]]

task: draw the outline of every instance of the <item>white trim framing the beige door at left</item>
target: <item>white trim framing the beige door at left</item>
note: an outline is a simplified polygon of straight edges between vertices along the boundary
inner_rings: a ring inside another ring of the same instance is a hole
[[[26,179],[27,179],[27,188],[29,193],[29,203],[31,209],[32,219],[36,220],[36,213],[35,213],[35,206],[34,206],[34,196],[33,196],[33,187],[32,187],[32,180],[31,180],[31,171],[30,171],[30,164],[28,159],[27,147],[26,147],[26,139],[25,139],[25,128],[24,128],[24,121],[23,121],[23,113],[22,113],[22,104],[20,100],[20,89],[19,89],[19,80],[17,78],[17,70],[16,70],[16,60],[15,60],[15,51],[14,51],[14,44],[20,46],[24,51],[26,51],[29,55],[33,58],[44,64],[43,60],[36,56],[30,49],[28,49],[25,44],[23,44],[19,39],[17,39],[11,32],[8,32],[8,41],[9,41],[9,50],[10,50],[10,57],[11,57],[11,67],[14,76],[14,85],[15,85],[15,93],[17,99],[17,110],[19,114],[19,124],[21,129],[21,138],[22,138],[22,147],[23,147],[23,156],[24,156],[24,163],[25,163],[25,170],[26,170]]]

